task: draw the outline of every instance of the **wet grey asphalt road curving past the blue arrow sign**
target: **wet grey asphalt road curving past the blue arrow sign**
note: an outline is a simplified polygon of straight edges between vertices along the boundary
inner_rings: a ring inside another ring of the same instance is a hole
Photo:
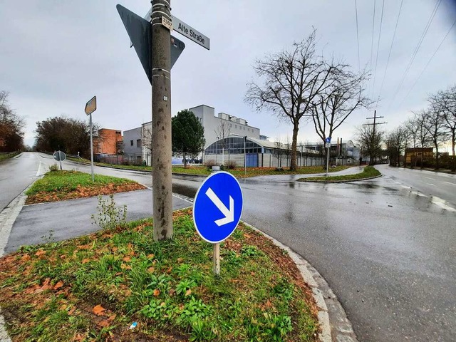
[[[378,168],[384,177],[331,185],[240,180],[242,219],[325,277],[360,341],[455,341],[456,192],[447,190],[456,176]],[[95,172],[152,183],[143,172]],[[194,197],[202,180],[175,176],[173,191]]]

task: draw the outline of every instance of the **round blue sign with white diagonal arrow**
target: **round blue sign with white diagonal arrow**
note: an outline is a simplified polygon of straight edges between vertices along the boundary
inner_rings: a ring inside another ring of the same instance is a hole
[[[193,204],[193,222],[198,234],[217,244],[227,239],[241,219],[241,186],[228,172],[215,172],[202,182]]]

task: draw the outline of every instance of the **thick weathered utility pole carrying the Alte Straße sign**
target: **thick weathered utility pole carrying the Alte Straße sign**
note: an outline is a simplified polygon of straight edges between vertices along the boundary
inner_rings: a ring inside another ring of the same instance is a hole
[[[170,1],[152,4],[152,206],[154,240],[172,237]]]

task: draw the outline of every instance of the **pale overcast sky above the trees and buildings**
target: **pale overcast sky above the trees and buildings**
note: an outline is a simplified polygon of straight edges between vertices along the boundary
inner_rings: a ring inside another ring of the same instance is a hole
[[[149,0],[0,0],[0,90],[9,91],[11,107],[26,118],[27,145],[33,145],[37,121],[62,114],[88,120],[84,106],[93,95],[98,105],[93,120],[103,128],[129,130],[151,120],[150,83],[129,48],[118,3],[140,16],[150,8]],[[211,44],[207,51],[174,33],[186,48],[172,68],[172,114],[205,104],[215,113],[245,118],[270,140],[291,137],[291,125],[279,123],[271,113],[258,113],[244,103],[244,96],[255,77],[255,59],[290,48],[314,26],[324,56],[343,58],[353,71],[371,68],[366,89],[381,99],[376,109],[388,122],[383,128],[391,130],[410,110],[423,108],[427,94],[456,83],[456,1],[403,0],[393,41],[400,4],[172,0],[172,14],[208,36]],[[371,116],[365,110],[354,113],[335,135],[353,138],[356,126]],[[317,140],[312,125],[301,123],[299,140]]]

